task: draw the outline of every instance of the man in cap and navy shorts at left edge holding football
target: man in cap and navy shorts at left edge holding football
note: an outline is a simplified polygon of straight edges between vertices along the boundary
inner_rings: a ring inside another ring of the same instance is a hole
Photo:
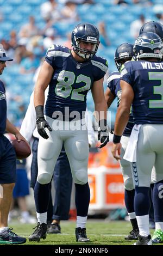
[[[13,59],[6,56],[0,44],[0,75],[6,68],[6,61]],[[11,205],[12,191],[16,181],[16,154],[11,143],[4,136],[5,131],[15,135],[18,142],[26,141],[21,133],[7,119],[7,102],[5,88],[0,80],[0,245],[25,243],[26,238],[13,233],[8,227],[8,214]]]

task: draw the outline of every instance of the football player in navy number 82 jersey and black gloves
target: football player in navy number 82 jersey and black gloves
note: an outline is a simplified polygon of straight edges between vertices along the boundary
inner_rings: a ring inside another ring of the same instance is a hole
[[[96,56],[98,45],[98,29],[90,23],[80,23],[72,32],[72,50],[59,45],[52,45],[47,50],[34,92],[37,131],[41,137],[37,156],[38,175],[34,188],[38,225],[29,236],[30,241],[46,238],[49,182],[63,143],[76,186],[76,241],[90,241],[85,228],[90,188],[87,178],[89,143],[84,119],[86,94],[90,89],[95,110],[99,113],[100,147],[104,147],[109,141],[107,105],[103,90],[108,64],[106,59]],[[48,84],[44,117],[44,93]]]

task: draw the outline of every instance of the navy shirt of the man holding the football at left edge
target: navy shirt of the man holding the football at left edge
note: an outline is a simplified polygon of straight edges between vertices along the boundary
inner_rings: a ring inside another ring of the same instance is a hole
[[[0,134],[5,132],[7,121],[7,102],[5,97],[5,88],[0,80]]]

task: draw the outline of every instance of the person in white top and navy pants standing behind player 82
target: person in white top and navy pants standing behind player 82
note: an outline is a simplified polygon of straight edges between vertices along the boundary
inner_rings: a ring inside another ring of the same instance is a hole
[[[45,91],[45,100],[47,99],[47,94],[48,88]],[[38,173],[37,147],[40,136],[36,129],[36,121],[34,122],[33,120],[36,120],[36,112],[34,107],[34,92],[30,96],[30,103],[20,129],[21,134],[27,139],[28,142],[33,141],[33,159],[31,165],[30,187],[34,189]],[[88,111],[86,111],[85,113],[85,120],[88,130],[89,146],[93,147],[94,145],[96,145],[97,141],[95,138],[95,132],[92,128],[92,120]],[[70,164],[68,162],[64,147],[62,147],[61,153],[55,164],[53,179],[55,187],[55,200],[53,206],[52,195],[50,193],[47,210],[48,234],[61,233],[60,220],[68,220],[69,218],[68,214],[70,211],[72,175]]]

